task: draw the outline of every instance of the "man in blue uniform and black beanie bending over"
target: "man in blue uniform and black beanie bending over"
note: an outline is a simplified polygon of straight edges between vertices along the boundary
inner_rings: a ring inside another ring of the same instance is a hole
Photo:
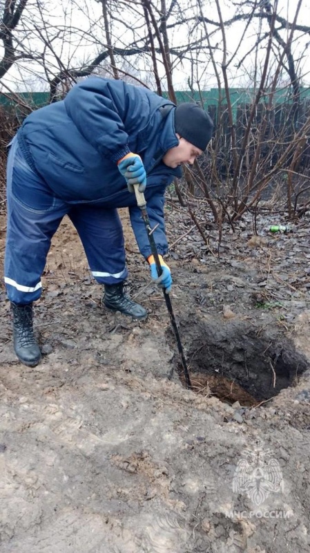
[[[65,99],[32,112],[10,143],[7,167],[8,232],[5,283],[12,306],[14,350],[35,366],[41,352],[32,328],[32,302],[50,241],[68,215],[81,238],[90,270],[104,285],[104,305],[135,319],[146,310],[124,294],[124,237],[117,208],[128,207],[139,251],[156,266],[133,185],[146,197],[148,216],[171,290],[164,192],[180,165],[193,163],[211,140],[213,123],[193,103],[175,106],[146,88],[88,77]]]

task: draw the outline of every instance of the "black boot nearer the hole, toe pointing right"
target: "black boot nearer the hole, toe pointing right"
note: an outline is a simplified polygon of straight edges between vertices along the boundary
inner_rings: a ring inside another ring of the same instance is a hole
[[[117,284],[104,285],[104,297],[102,302],[113,311],[120,311],[133,319],[146,319],[148,312],[139,303],[132,301],[124,294],[124,281]]]

